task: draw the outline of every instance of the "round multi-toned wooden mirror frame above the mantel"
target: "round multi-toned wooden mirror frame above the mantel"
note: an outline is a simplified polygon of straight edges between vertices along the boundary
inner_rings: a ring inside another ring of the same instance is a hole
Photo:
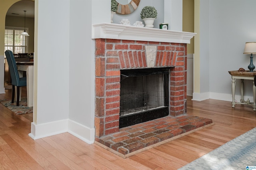
[[[122,5],[118,3],[116,14],[127,15],[134,12],[140,4],[140,0],[131,0],[129,4]]]

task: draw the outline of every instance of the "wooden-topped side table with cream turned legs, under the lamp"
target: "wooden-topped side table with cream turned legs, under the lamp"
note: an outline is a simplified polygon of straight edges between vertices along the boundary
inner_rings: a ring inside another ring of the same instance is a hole
[[[254,76],[256,75],[256,71],[228,71],[228,73],[232,77],[232,107],[235,107],[236,104],[240,105],[252,105],[253,110],[256,111],[256,86],[254,85]],[[241,79],[241,100],[239,102],[235,102],[235,92],[236,92],[236,79]],[[244,101],[244,79],[253,80],[252,85],[252,93],[253,93],[253,103],[250,103],[250,100]]]

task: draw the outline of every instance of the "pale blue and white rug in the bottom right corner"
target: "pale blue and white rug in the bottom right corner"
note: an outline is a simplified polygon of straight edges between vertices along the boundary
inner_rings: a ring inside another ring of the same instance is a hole
[[[179,170],[256,169],[256,128],[230,140]]]

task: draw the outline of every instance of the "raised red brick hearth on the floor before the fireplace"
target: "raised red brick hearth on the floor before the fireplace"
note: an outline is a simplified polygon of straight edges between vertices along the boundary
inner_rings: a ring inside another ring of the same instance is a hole
[[[126,158],[146,147],[168,142],[206,125],[212,125],[212,120],[190,115],[167,116],[120,128],[119,132],[101,137],[96,144],[103,144],[108,150]]]

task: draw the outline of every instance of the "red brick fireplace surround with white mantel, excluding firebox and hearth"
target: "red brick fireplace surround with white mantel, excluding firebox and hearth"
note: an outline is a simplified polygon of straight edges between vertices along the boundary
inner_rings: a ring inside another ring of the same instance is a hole
[[[186,44],[193,36],[119,24],[94,25],[96,141],[119,131],[120,70],[168,68],[169,115],[186,113]]]

